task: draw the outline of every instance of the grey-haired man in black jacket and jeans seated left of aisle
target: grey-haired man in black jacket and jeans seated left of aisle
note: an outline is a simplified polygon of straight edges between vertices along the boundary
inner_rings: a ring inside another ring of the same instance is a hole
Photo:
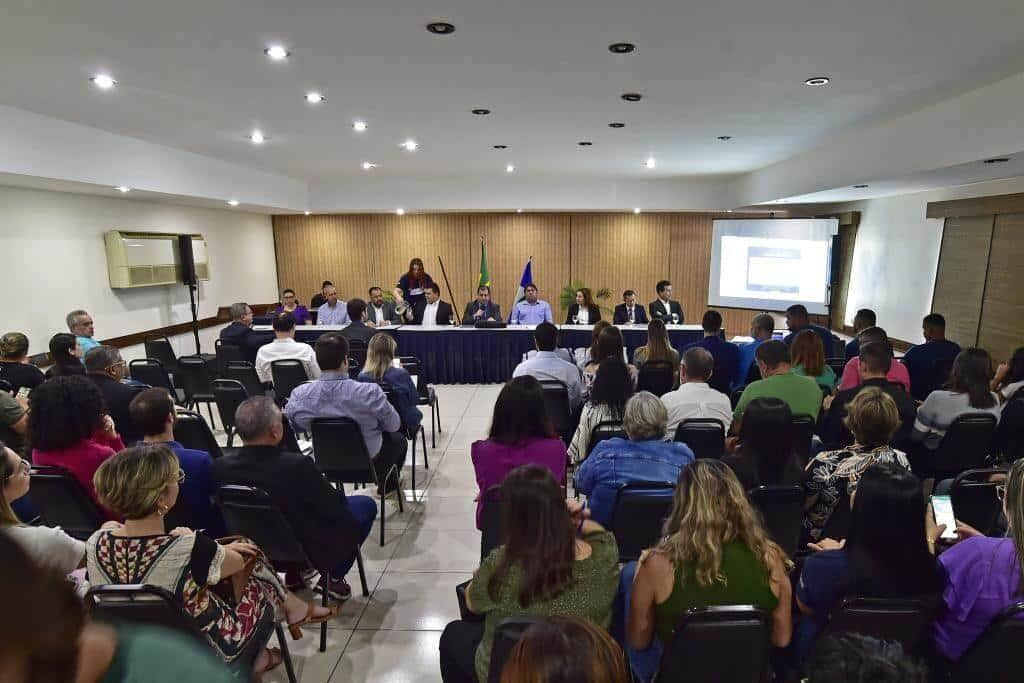
[[[258,486],[273,499],[295,530],[313,566],[330,570],[325,588],[338,600],[352,594],[345,574],[355,553],[370,536],[377,517],[377,503],[367,496],[345,496],[324,478],[311,458],[282,453],[284,423],[273,399],[255,396],[239,405],[234,427],[245,447],[237,455],[213,461],[216,485]]]

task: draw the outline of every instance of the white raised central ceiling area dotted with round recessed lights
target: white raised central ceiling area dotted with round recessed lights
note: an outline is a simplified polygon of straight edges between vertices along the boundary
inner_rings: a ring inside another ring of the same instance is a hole
[[[0,0],[0,103],[308,182],[739,174],[1024,70],[1020,0]]]

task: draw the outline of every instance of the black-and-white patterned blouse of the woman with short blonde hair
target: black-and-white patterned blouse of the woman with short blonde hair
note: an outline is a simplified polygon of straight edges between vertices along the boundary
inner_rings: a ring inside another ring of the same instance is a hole
[[[808,498],[817,496],[814,505],[804,516],[804,530],[811,539],[817,541],[820,538],[836,504],[844,496],[849,500],[857,490],[860,475],[876,463],[896,463],[910,469],[910,463],[902,451],[889,445],[869,450],[857,443],[840,451],[820,453],[807,464],[809,474],[804,488]]]

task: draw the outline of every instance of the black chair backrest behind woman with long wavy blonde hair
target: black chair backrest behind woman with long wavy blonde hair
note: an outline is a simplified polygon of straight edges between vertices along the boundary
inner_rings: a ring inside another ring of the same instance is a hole
[[[767,680],[770,616],[753,605],[687,610],[665,645],[657,680],[672,683]]]

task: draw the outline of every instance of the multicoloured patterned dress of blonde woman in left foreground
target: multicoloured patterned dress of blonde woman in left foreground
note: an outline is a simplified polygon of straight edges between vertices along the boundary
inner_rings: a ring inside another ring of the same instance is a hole
[[[275,607],[284,604],[285,589],[261,563],[237,604],[211,590],[221,580],[224,548],[201,533],[129,538],[99,529],[86,543],[86,553],[93,586],[148,584],[167,590],[228,664],[251,654],[250,644],[265,644]]]

